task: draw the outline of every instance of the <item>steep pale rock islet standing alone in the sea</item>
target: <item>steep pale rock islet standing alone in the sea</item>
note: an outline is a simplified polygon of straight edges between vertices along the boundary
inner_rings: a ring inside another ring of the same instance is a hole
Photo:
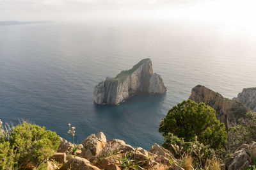
[[[142,59],[131,70],[125,70],[115,78],[99,82],[93,91],[96,104],[118,105],[136,93],[164,93],[166,87],[157,73],[153,74],[151,59]]]

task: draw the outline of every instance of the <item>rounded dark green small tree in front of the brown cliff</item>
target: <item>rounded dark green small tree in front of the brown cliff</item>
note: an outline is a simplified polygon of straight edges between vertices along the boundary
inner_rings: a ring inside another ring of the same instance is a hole
[[[216,119],[216,112],[204,103],[184,100],[175,105],[160,124],[159,132],[165,137],[168,133],[218,149],[227,141],[224,123]]]

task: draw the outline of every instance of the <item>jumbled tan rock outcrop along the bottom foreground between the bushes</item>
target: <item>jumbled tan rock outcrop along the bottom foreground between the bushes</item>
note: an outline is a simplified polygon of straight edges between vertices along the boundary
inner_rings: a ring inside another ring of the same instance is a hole
[[[68,145],[65,139],[62,141],[60,148],[63,148],[63,144],[73,147]],[[99,132],[89,135],[79,145],[83,145],[80,147],[81,151],[74,152],[70,148],[66,150],[67,158],[66,153],[56,153],[52,157],[60,163],[60,169],[121,170],[127,168],[127,161],[129,164],[140,166],[140,169],[182,169],[176,164],[179,160],[156,143],[147,151],[140,147],[133,148],[119,139],[107,141],[106,136]]]

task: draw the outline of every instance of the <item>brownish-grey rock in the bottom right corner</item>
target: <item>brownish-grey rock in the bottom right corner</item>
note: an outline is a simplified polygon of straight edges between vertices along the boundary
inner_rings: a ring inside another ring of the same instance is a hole
[[[244,169],[251,165],[256,156],[256,142],[242,144],[239,149],[225,160],[225,170]]]

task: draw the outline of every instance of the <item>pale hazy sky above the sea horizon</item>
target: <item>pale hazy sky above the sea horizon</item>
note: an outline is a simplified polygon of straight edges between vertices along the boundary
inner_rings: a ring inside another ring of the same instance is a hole
[[[256,0],[0,0],[0,20],[189,19],[254,24]]]

